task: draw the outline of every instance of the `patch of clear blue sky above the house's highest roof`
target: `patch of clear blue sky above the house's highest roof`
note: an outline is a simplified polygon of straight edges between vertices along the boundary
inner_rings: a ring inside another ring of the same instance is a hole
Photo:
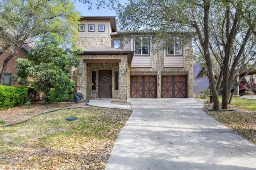
[[[91,0],[93,4],[95,0]],[[124,1],[124,0],[122,0]],[[75,0],[76,9],[81,12],[82,16],[116,16],[116,12],[114,10],[110,10],[106,8],[100,8],[97,10],[96,6],[92,6],[91,10],[88,10],[89,4],[84,4]]]

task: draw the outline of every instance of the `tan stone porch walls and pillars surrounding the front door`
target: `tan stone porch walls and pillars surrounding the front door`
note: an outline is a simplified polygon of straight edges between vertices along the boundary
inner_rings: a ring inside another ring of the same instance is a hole
[[[82,93],[84,99],[98,98],[98,70],[112,70],[112,98],[127,100],[127,55],[80,55],[81,59],[121,59],[121,63],[81,63],[77,70],[82,69],[82,74],[76,74],[76,91]],[[92,90],[92,70],[96,71],[96,90]],[[114,90],[114,71],[118,70],[118,90]],[[125,74],[122,74],[125,70]]]

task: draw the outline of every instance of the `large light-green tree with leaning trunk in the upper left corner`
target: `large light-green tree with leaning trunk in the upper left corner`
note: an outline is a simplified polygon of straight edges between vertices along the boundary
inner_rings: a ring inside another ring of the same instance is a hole
[[[80,14],[70,0],[1,0],[0,57],[5,58],[0,73],[0,85],[8,61],[22,45],[39,40],[43,34],[58,33],[75,40]]]

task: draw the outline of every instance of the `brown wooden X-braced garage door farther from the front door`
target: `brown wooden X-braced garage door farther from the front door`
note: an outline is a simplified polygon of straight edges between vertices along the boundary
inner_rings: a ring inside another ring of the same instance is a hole
[[[187,98],[188,78],[182,76],[162,76],[162,98]]]

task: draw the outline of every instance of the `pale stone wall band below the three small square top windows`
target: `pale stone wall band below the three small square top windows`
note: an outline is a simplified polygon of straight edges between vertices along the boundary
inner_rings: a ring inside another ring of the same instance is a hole
[[[91,37],[91,36],[80,36],[78,37],[78,45],[79,47],[86,49],[92,47],[102,47],[107,46],[111,47],[111,37],[107,36],[99,36],[99,37]]]

